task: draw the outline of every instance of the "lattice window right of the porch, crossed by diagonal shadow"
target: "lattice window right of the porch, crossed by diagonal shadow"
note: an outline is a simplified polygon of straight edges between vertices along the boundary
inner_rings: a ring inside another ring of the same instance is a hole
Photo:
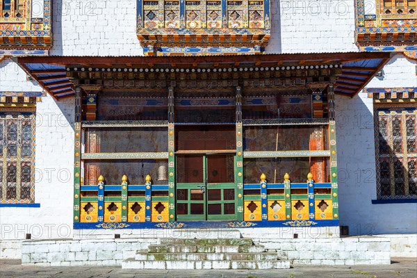
[[[416,115],[414,108],[375,113],[378,199],[417,198]]]

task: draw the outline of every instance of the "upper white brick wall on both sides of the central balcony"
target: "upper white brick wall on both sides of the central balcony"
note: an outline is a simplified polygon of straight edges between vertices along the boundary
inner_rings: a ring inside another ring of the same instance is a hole
[[[357,51],[354,2],[272,0],[267,53]],[[140,56],[136,0],[54,1],[54,56]]]

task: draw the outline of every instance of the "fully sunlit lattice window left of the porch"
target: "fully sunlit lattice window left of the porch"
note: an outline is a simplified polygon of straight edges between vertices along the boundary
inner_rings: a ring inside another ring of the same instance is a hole
[[[1,112],[0,145],[0,202],[34,202],[34,113]]]

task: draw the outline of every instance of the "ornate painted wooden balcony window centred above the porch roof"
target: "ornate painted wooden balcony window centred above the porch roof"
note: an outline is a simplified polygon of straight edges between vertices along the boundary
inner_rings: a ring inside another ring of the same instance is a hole
[[[138,0],[137,27],[147,55],[170,55],[182,47],[229,47],[239,53],[240,47],[268,43],[270,0]]]

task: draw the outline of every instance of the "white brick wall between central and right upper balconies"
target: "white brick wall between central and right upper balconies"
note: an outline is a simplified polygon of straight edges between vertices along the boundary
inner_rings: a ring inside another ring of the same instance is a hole
[[[358,51],[354,1],[271,0],[271,18],[268,54]]]

